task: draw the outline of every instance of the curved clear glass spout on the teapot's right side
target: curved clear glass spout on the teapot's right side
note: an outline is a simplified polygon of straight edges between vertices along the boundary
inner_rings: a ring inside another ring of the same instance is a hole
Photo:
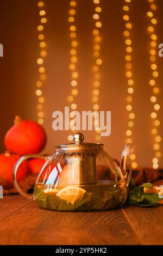
[[[131,175],[132,175],[132,169],[131,169],[131,162],[130,162],[130,153],[131,150],[135,147],[134,144],[128,143],[122,152],[121,156],[121,162],[120,162],[120,169],[122,171],[122,174],[124,176],[124,179],[126,180],[126,185],[128,186]]]

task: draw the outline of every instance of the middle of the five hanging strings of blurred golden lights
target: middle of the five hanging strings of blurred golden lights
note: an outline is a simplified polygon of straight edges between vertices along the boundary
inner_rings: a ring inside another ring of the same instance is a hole
[[[102,58],[100,56],[101,51],[101,35],[100,29],[102,28],[102,22],[100,21],[100,13],[102,12],[102,8],[100,7],[99,0],[93,0],[95,4],[95,12],[93,13],[93,21],[95,22],[95,29],[93,29],[93,57],[95,58],[95,64],[93,65],[93,95],[92,95],[92,102],[93,102],[93,111],[98,111],[99,109],[99,86],[100,86],[100,66],[102,65]],[[99,120],[96,119],[96,116],[93,115],[93,124],[96,127],[95,136],[96,141],[101,141],[101,128],[99,127]]]

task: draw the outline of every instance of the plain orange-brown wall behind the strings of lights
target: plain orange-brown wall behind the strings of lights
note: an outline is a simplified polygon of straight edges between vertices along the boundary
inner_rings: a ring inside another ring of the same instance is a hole
[[[48,135],[46,153],[52,153],[55,144],[67,142],[67,131],[52,130],[52,113],[63,110],[67,105],[67,96],[70,95],[69,65],[69,24],[67,22],[68,0],[45,0],[45,9],[48,22],[44,34],[47,42],[48,56],[45,60],[47,80],[43,86],[45,96],[43,125]],[[92,29],[93,5],[91,0],[78,0],[77,33],[78,33],[78,72],[79,83],[77,104],[79,111],[92,110]],[[152,104],[150,97],[152,89],[148,80],[151,78],[149,69],[149,36],[147,33],[149,10],[146,0],[133,0],[131,3],[131,23],[133,29],[133,74],[135,93],[133,108],[135,126],[133,139],[136,144],[137,162],[140,167],[152,167],[154,157],[154,138],[151,136]],[[127,83],[124,69],[125,45],[123,38],[124,23],[123,0],[101,0],[103,27],[101,56],[102,86],[100,88],[99,105],[101,110],[111,111],[111,136],[102,137],[102,143],[111,156],[120,159],[122,148],[126,141],[127,130]],[[158,44],[163,43],[163,1],[156,1],[158,10],[156,17],[156,33]],[[12,125],[15,115],[24,119],[37,119],[35,96],[35,82],[38,78],[36,59],[39,57],[39,42],[37,40],[37,25],[39,25],[39,8],[35,0],[2,0],[0,9],[0,42],[4,46],[4,57],[0,58],[0,87],[1,87],[1,130],[0,148],[4,151],[3,138],[5,132]],[[158,84],[160,94],[158,101],[163,107],[162,97],[162,68],[163,58],[158,57],[160,76]],[[162,109],[159,119],[162,119]],[[163,134],[161,124],[160,134]],[[84,132],[86,141],[95,141],[95,132]],[[162,146],[162,145],[161,145]],[[163,147],[162,147],[163,148]],[[163,157],[160,162],[163,167]]]

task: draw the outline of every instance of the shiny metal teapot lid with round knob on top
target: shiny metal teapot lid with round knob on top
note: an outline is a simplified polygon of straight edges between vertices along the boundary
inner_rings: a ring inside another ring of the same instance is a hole
[[[74,133],[73,135],[74,143],[57,145],[55,148],[80,148],[80,147],[102,147],[104,144],[101,143],[86,143],[84,141],[84,135],[80,132]]]

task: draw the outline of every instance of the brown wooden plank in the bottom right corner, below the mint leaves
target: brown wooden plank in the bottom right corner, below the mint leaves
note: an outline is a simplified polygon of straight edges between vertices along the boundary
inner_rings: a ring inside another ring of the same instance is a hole
[[[143,245],[163,245],[162,205],[153,208],[130,206],[123,212]]]

